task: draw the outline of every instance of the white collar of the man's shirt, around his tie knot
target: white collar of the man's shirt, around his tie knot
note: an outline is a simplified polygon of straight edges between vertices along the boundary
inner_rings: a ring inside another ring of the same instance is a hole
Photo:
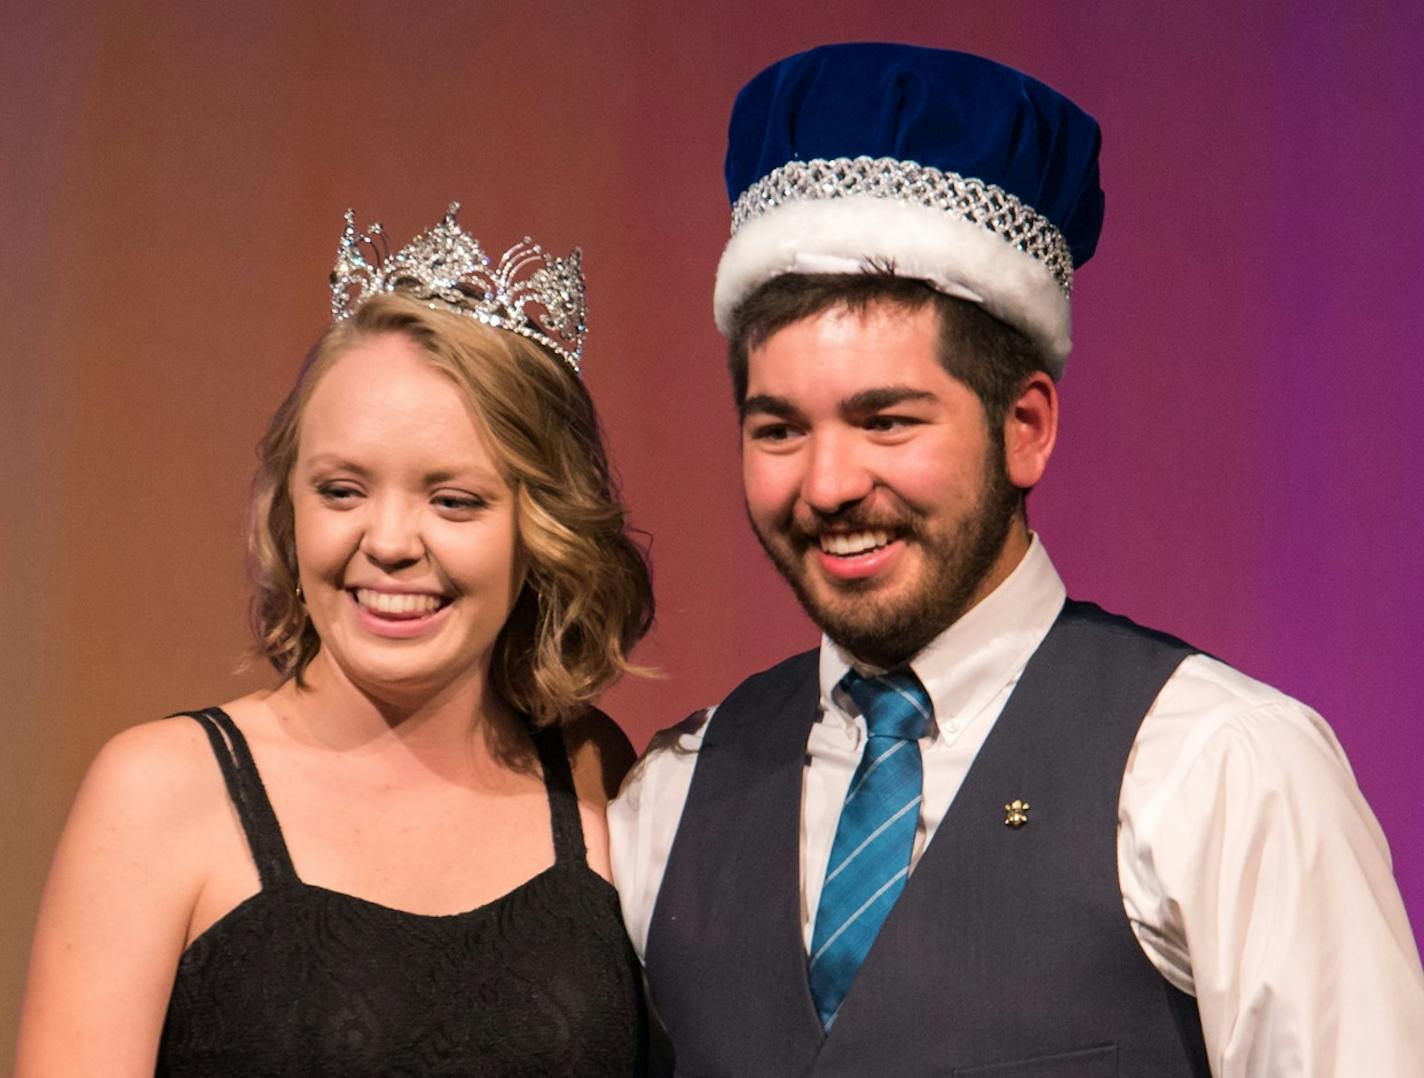
[[[934,701],[936,732],[957,732],[1004,685],[1018,678],[1030,655],[1052,628],[1065,598],[1058,570],[1038,535],[1032,535],[1028,553],[1004,582],[910,659],[910,669]],[[854,721],[846,713],[840,699],[843,694],[832,699],[833,689],[853,662],[840,645],[822,637],[823,716],[839,715],[847,722]],[[854,665],[863,672],[879,672],[866,664]]]

